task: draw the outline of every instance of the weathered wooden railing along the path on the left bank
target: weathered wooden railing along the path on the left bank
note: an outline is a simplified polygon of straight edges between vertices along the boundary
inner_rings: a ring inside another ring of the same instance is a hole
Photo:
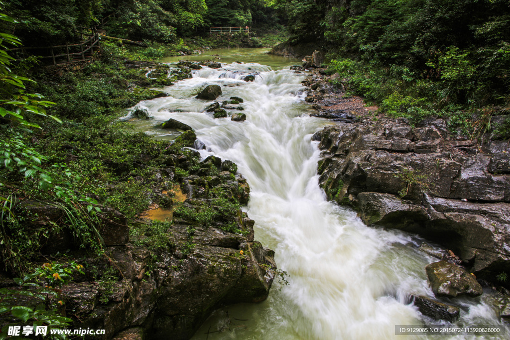
[[[99,33],[93,34],[89,39],[79,44],[65,44],[65,45],[54,45],[54,46],[34,46],[34,47],[17,47],[11,48],[9,51],[22,51],[25,50],[45,50],[44,56],[39,56],[39,59],[51,59],[53,65],[75,63],[92,58],[94,54],[94,47],[100,48],[100,36]],[[55,54],[55,51],[59,51],[65,48],[65,53]],[[70,49],[75,49],[77,52],[70,53]],[[79,50],[79,51],[78,51]],[[39,55],[31,53],[32,55]],[[49,56],[47,56],[49,54]],[[58,58],[65,57],[64,62],[57,62]]]

